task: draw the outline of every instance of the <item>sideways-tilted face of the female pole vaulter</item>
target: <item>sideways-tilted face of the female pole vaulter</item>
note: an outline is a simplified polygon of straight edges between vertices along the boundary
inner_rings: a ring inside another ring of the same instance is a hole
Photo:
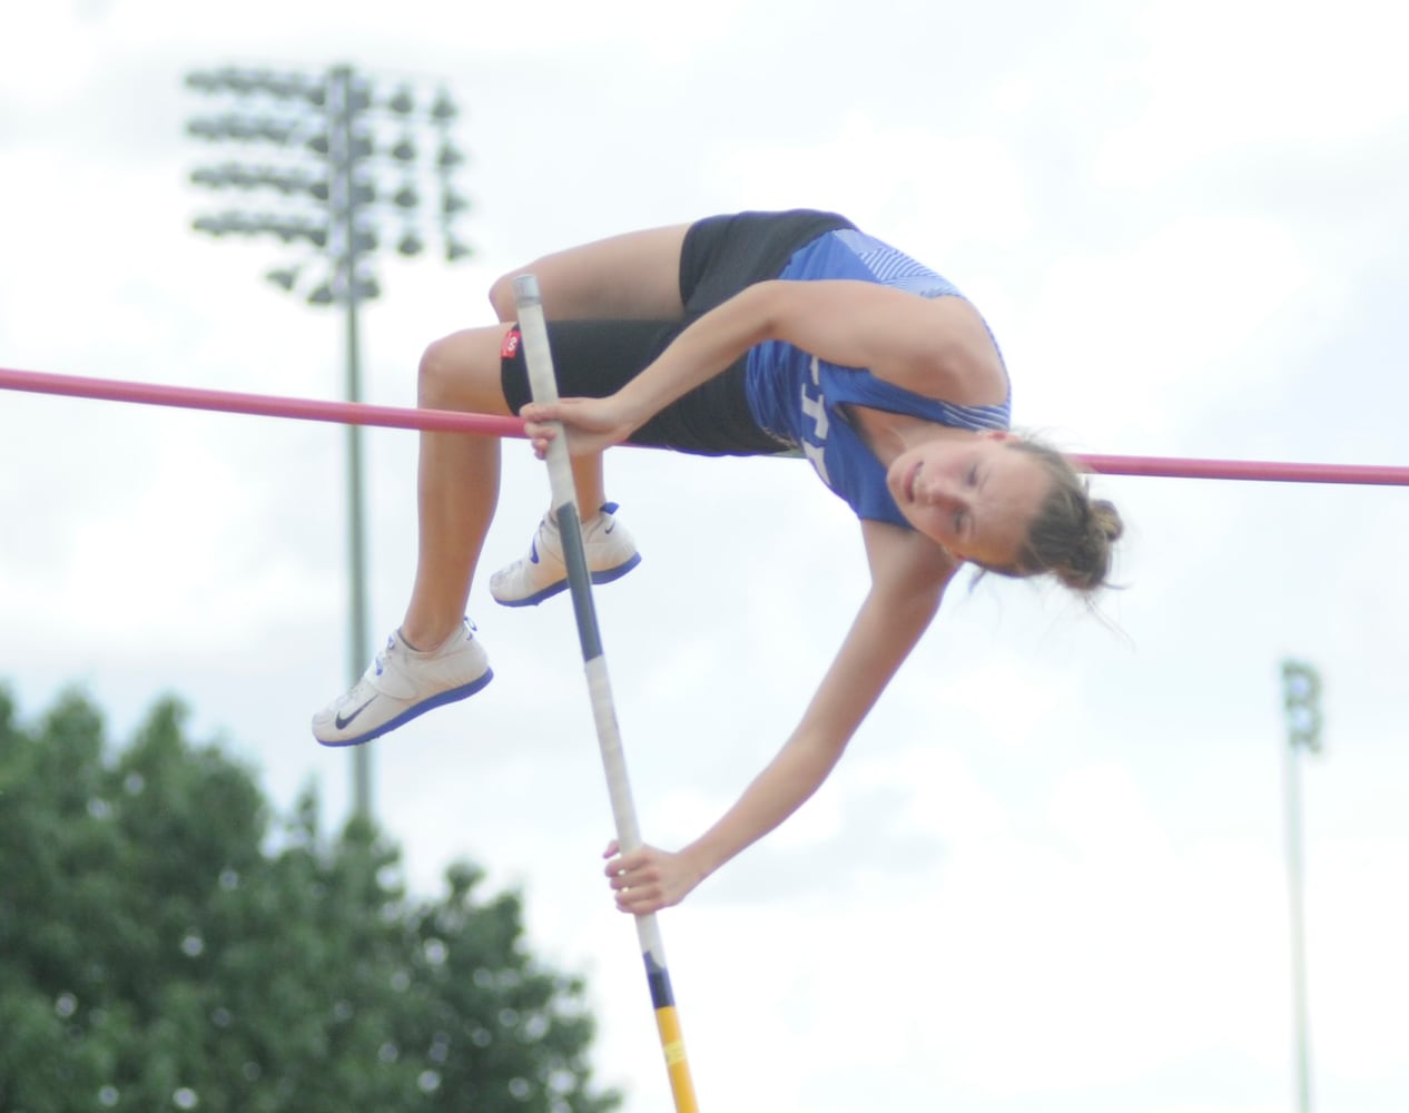
[[[1012,568],[1051,487],[1003,434],[941,437],[896,456],[886,486],[921,534],[964,561]]]

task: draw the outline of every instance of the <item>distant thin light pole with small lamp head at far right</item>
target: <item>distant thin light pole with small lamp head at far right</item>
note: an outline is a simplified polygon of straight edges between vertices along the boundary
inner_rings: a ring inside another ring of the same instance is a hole
[[[1301,661],[1282,662],[1282,706],[1286,710],[1286,878],[1292,924],[1292,1037],[1296,1098],[1301,1113],[1312,1109],[1312,1052],[1306,1005],[1306,930],[1302,895],[1302,785],[1298,751],[1322,752],[1320,673]]]

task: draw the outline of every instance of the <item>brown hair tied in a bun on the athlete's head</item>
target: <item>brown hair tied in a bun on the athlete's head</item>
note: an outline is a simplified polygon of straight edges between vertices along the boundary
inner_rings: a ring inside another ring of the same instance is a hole
[[[1026,435],[1007,445],[1031,455],[1043,466],[1051,490],[1027,527],[1016,565],[988,571],[1020,578],[1051,573],[1081,595],[1105,587],[1112,547],[1124,533],[1115,503],[1092,499],[1086,478],[1055,448]]]

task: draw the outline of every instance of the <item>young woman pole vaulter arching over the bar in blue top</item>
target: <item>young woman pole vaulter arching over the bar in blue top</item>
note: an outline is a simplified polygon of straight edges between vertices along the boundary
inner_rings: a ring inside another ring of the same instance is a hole
[[[558,389],[530,403],[513,279],[537,276]],[[420,404],[521,414],[538,455],[568,431],[593,580],[635,544],[609,503],[616,444],[702,455],[802,451],[855,511],[871,587],[792,737],[709,831],[679,852],[607,848],[617,906],[675,904],[795,812],[938,611],[962,564],[1100,587],[1120,537],[1058,452],[1009,431],[988,325],[944,278],[831,213],[741,213],[550,255],[490,290],[500,324],[427,348]],[[420,552],[402,626],[351,692],[313,719],[324,745],[369,741],[492,678],[464,617],[499,496],[499,441],[421,434]],[[507,606],[566,586],[547,517],[490,580]]]

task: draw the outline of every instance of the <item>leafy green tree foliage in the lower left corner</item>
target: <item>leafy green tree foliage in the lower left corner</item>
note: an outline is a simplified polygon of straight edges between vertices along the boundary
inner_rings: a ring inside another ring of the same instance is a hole
[[[606,1113],[583,983],[461,864],[434,902],[371,826],[275,823],[249,771],[155,706],[106,752],[68,695],[0,688],[0,1110]]]

